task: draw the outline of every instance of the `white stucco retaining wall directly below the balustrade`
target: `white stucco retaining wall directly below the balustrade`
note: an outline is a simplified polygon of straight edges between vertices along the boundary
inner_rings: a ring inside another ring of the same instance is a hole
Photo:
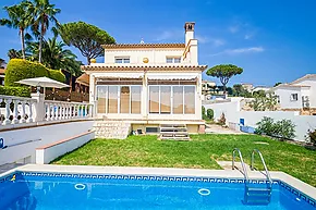
[[[94,121],[83,121],[0,132],[0,138],[3,138],[4,146],[8,146],[5,149],[0,149],[0,165],[29,156],[31,163],[35,163],[35,149],[37,147],[83,134],[92,129],[93,124]],[[11,145],[36,139],[40,140],[10,147]]]

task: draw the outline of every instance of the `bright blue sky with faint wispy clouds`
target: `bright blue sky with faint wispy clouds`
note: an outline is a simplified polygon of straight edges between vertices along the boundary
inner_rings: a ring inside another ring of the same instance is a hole
[[[232,63],[244,69],[230,85],[274,85],[316,73],[315,0],[50,1],[62,10],[57,16],[61,23],[84,21],[123,44],[142,38],[145,42],[183,42],[184,22],[196,22],[199,64]],[[0,8],[17,2],[1,0]],[[5,15],[0,11],[0,17]],[[0,27],[0,58],[8,59],[9,49],[21,48],[17,30]]]

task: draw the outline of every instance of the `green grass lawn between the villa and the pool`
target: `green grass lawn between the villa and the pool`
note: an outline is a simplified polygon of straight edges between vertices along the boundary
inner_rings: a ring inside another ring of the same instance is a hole
[[[270,171],[283,171],[316,186],[316,151],[255,135],[192,135],[191,141],[161,141],[156,136],[125,140],[95,139],[58,158],[53,164],[221,169],[216,160],[231,161],[241,149],[246,163],[259,149]],[[258,145],[265,141],[269,145]],[[256,159],[259,165],[258,158]]]

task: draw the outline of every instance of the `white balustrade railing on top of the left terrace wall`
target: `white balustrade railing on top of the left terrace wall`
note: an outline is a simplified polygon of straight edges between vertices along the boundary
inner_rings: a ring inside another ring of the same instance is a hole
[[[32,98],[0,95],[0,128],[12,124],[88,118],[93,118],[90,103],[44,100],[44,96],[38,94]]]

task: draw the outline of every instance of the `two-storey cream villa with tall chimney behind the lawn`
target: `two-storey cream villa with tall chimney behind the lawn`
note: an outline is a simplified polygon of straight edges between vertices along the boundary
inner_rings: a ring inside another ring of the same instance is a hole
[[[105,62],[82,66],[89,75],[89,102],[97,118],[129,122],[133,131],[158,133],[159,125],[204,129],[202,72],[195,23],[185,23],[181,44],[104,45]]]

